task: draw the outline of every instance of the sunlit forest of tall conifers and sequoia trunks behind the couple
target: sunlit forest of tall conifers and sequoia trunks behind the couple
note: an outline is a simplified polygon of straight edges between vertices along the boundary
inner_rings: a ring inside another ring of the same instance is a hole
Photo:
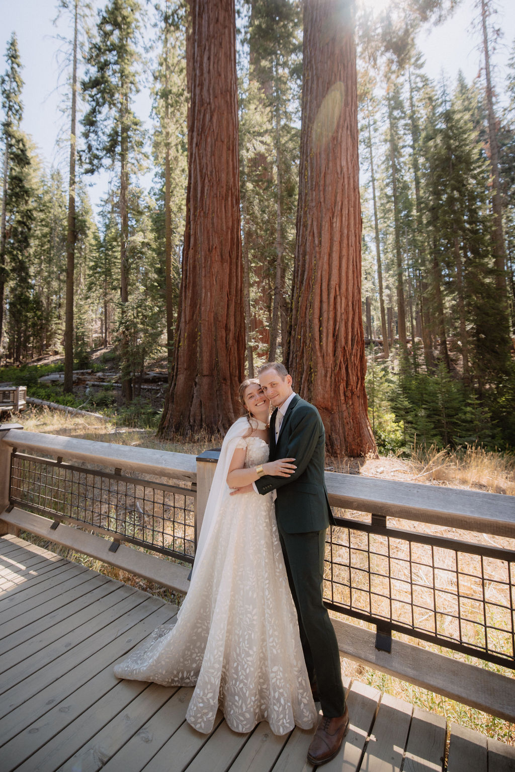
[[[235,384],[275,359],[334,455],[513,449],[515,42],[496,70],[496,6],[474,4],[468,82],[431,80],[417,48],[453,0],[221,5],[208,22],[202,0],[49,4],[69,29],[52,167],[23,130],[24,63],[16,31],[5,39],[2,364],[62,354],[71,394],[73,369],[114,347],[116,408],[161,360],[170,435],[223,431]]]

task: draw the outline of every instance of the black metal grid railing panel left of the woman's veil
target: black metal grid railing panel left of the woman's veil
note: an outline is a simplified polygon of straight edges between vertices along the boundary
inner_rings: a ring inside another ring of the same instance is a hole
[[[13,452],[10,501],[193,563],[196,491]]]

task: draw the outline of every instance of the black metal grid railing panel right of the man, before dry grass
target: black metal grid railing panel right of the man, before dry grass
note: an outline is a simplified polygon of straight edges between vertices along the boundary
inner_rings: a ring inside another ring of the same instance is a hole
[[[327,607],[515,669],[515,552],[336,518]],[[386,522],[386,518],[385,518]]]

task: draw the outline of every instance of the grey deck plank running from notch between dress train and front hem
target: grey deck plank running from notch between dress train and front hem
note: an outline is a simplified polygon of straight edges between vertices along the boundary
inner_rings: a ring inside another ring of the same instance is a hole
[[[185,722],[192,686],[183,686],[102,767],[103,772],[141,772]]]

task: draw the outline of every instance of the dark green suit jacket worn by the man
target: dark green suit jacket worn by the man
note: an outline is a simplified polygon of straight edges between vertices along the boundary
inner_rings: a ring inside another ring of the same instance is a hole
[[[334,519],[324,481],[325,432],[320,414],[296,394],[276,444],[276,413],[270,419],[270,461],[295,459],[296,470],[290,477],[260,477],[256,488],[263,494],[276,489],[277,523],[286,533],[323,530]]]

